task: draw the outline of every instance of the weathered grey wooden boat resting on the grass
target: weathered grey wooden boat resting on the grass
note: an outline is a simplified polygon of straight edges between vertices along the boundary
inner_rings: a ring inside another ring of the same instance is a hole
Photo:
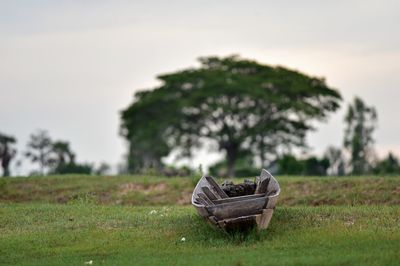
[[[229,197],[211,176],[203,176],[192,194],[192,205],[198,214],[224,231],[268,227],[280,187],[276,179],[262,170],[256,177],[254,194]]]

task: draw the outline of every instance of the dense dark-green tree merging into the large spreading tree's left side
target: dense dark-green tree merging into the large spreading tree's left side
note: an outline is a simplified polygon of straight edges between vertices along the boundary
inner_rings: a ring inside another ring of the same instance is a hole
[[[177,99],[169,91],[142,91],[135,95],[135,102],[122,112],[121,134],[129,143],[127,170],[131,173],[142,169],[161,170],[161,159],[172,149],[167,143],[168,128],[177,123]]]

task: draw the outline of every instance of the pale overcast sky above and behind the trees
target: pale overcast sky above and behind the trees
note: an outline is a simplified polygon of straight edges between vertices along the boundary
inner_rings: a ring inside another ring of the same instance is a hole
[[[40,128],[79,161],[115,165],[119,111],[136,90],[199,56],[240,54],[340,90],[343,108],[308,136],[315,153],[341,145],[358,95],[378,110],[378,153],[400,155],[399,27],[400,1],[0,0],[0,132],[17,137],[20,156]]]

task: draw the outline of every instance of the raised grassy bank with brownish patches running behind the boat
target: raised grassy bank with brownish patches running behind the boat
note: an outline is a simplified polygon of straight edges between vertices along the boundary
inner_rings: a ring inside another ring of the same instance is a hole
[[[400,204],[400,177],[277,179],[282,188],[281,206]],[[148,176],[0,178],[0,202],[70,203],[84,199],[98,204],[185,205],[190,203],[196,181]]]

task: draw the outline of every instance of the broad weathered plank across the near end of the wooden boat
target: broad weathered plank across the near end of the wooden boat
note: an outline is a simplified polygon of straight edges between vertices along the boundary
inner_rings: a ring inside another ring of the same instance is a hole
[[[259,197],[242,201],[222,203],[206,207],[207,211],[214,215],[218,220],[236,218],[262,213],[268,198]]]

